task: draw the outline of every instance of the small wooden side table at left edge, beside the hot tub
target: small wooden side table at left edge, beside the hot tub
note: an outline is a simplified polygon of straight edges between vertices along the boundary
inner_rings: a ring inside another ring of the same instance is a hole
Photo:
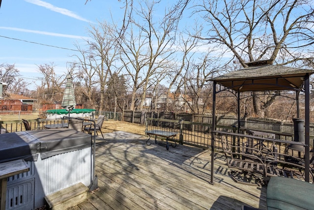
[[[6,184],[8,177],[29,171],[25,160],[0,163],[0,210],[5,210]]]

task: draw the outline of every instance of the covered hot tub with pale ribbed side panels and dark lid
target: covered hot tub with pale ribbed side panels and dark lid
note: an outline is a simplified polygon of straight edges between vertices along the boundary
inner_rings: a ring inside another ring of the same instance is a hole
[[[25,159],[29,172],[8,178],[6,209],[33,210],[44,197],[92,182],[91,135],[72,129],[21,131],[0,135],[0,162]]]

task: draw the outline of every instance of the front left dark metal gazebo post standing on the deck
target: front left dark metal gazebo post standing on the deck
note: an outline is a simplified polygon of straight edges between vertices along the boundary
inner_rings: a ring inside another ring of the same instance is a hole
[[[211,126],[211,164],[210,164],[210,183],[213,184],[214,180],[214,144],[215,144],[215,135],[213,131],[216,129],[216,119],[215,119],[215,109],[216,109],[216,82],[213,81],[212,88],[212,126]]]

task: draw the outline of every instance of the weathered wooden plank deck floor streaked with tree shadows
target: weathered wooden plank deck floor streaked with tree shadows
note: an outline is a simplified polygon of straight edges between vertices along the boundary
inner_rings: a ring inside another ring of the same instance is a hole
[[[224,157],[215,153],[210,184],[210,151],[177,145],[146,145],[147,137],[123,131],[97,140],[98,187],[72,210],[240,210],[266,209],[266,188],[237,183]]]

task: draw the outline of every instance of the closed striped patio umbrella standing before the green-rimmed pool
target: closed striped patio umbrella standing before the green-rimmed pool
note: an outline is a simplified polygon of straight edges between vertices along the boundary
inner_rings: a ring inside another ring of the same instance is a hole
[[[66,78],[67,78],[67,83],[64,89],[61,106],[65,110],[69,111],[69,117],[70,117],[70,111],[72,111],[75,108],[76,102],[75,102],[72,75],[69,73]]]

